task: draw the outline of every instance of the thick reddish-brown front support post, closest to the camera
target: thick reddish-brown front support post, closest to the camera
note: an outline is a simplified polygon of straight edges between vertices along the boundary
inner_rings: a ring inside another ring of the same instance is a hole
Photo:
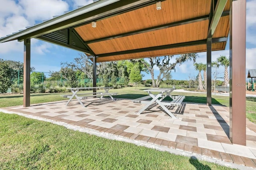
[[[230,6],[230,141],[246,145],[246,1]]]

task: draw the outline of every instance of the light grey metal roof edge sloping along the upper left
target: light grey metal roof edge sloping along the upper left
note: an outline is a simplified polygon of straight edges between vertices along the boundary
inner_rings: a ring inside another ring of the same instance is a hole
[[[44,21],[42,23],[39,23],[37,25],[30,26],[29,28],[27,28],[27,29],[25,29],[23,31],[17,32],[15,34],[7,35],[6,37],[0,39],[0,43],[16,40],[16,39],[18,39],[18,37],[24,36],[24,35],[26,35],[28,33],[32,33],[34,31],[38,31],[38,30],[40,30],[42,28],[49,27],[49,26],[54,25],[56,23],[59,23],[61,21],[65,21],[65,20],[71,19],[71,18],[73,18],[75,16],[79,16],[81,14],[85,14],[85,13],[90,12],[92,10],[95,10],[97,8],[101,8],[103,6],[106,6],[106,5],[109,5],[109,4],[112,4],[114,2],[118,2],[118,1],[120,1],[120,0],[100,0],[100,1],[88,4],[88,5],[84,6],[84,7],[72,10],[72,11],[70,11],[68,13],[65,13],[65,14],[62,14],[62,15],[56,17],[56,18],[52,18],[50,20]]]

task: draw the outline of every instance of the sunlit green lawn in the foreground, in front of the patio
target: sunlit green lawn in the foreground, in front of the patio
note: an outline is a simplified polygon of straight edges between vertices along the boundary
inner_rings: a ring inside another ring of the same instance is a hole
[[[229,170],[218,164],[0,113],[0,169]]]

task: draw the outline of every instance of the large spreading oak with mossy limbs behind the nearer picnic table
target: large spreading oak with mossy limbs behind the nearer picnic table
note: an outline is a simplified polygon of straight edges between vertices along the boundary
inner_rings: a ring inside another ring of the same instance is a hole
[[[148,58],[149,63],[145,60],[140,61],[144,64],[144,66],[148,69],[149,73],[151,74],[152,79],[152,86],[158,87],[160,85],[160,82],[164,80],[166,75],[170,74],[172,70],[175,71],[175,67],[177,64],[182,64],[185,61],[192,60],[195,62],[196,57],[198,55],[196,53],[190,53],[190,54],[182,54],[180,57],[176,58],[176,61],[174,63],[170,63],[170,60],[174,57],[173,55],[163,56],[163,57],[150,57]],[[154,66],[157,66],[160,70],[157,79],[154,79]]]

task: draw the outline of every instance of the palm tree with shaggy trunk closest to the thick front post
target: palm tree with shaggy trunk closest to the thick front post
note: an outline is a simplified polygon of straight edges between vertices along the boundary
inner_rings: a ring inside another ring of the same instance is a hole
[[[224,66],[224,86],[228,86],[229,78],[228,78],[228,66],[229,66],[229,57],[225,55],[221,55],[217,58],[217,60],[212,64],[213,66],[219,68],[220,66]]]

